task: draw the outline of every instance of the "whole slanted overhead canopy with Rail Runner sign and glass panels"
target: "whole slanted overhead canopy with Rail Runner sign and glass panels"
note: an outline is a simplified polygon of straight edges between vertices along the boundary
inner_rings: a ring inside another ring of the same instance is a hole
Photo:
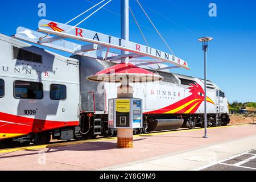
[[[92,56],[92,52],[106,49],[99,57],[94,53],[97,59],[106,61],[119,61],[125,57],[129,57],[131,62],[133,59],[140,57],[149,57],[150,59],[135,60],[138,66],[167,63],[172,64],[171,67],[163,67],[159,69],[185,68],[189,69],[187,61],[180,59],[169,53],[160,51],[155,48],[144,46],[139,43],[130,42],[114,36],[101,34],[100,32],[86,30],[84,28],[70,26],[68,24],[58,23],[52,20],[40,20],[38,31],[28,28],[18,27],[15,38],[36,43],[41,46],[47,46],[61,51],[73,53],[74,55]],[[77,44],[75,42],[64,39],[80,40],[85,44]],[[110,53],[110,48],[130,52],[125,55]]]

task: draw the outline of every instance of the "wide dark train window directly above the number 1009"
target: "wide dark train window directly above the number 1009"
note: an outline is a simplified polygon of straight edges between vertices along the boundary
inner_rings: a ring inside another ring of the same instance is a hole
[[[41,82],[14,81],[14,97],[40,100],[43,98],[43,84]]]

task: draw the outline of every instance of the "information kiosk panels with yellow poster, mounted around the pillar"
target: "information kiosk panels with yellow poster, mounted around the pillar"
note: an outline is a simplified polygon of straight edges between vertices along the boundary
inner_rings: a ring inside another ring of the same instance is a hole
[[[142,100],[138,98],[114,98],[109,100],[109,127],[142,128]]]

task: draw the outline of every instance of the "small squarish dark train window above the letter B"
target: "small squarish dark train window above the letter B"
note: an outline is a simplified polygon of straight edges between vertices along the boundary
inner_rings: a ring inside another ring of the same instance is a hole
[[[51,100],[66,100],[67,88],[65,85],[52,84],[50,87]]]

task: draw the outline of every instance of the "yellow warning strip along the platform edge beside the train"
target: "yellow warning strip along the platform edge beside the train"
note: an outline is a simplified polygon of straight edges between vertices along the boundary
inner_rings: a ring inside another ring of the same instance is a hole
[[[208,130],[221,129],[221,128],[225,128],[225,127],[248,126],[248,125],[249,124],[210,127],[210,128],[208,128]],[[134,138],[143,137],[143,136],[165,135],[165,134],[170,134],[170,133],[191,132],[191,131],[199,131],[199,130],[204,130],[204,128],[203,129],[193,129],[193,130],[187,129],[187,130],[162,131],[162,132],[158,132],[158,133],[139,134],[139,135],[134,135]],[[15,151],[21,151],[21,150],[35,150],[35,149],[47,148],[47,147],[60,147],[60,146],[68,146],[68,145],[72,145],[72,144],[81,144],[81,143],[86,143],[86,142],[100,142],[100,141],[103,141],[103,140],[114,140],[114,139],[117,139],[117,137],[89,139],[89,140],[82,140],[82,141],[53,143],[53,144],[44,144],[44,145],[40,145],[40,146],[18,147],[18,148],[10,148],[10,149],[0,150],[0,153],[15,152]]]

